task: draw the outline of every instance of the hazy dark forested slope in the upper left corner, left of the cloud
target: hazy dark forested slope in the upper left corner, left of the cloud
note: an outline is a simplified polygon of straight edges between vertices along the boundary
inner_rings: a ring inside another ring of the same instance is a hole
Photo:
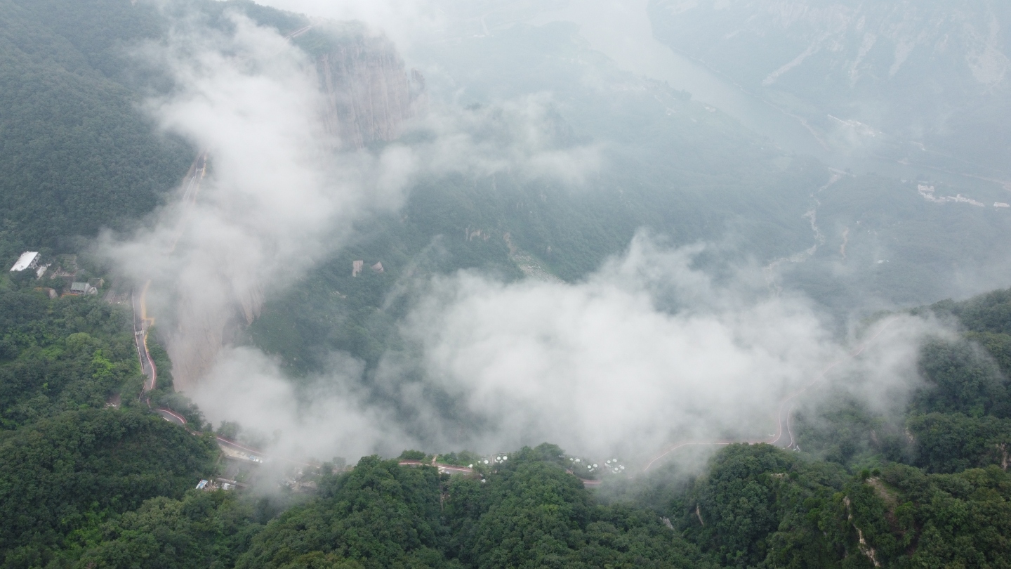
[[[168,8],[165,8],[168,9]],[[238,9],[283,31],[304,18],[235,0],[175,9],[227,26]],[[170,82],[139,55],[165,37],[159,6],[129,0],[0,1],[0,258],[75,251],[127,229],[176,187],[196,154],[143,109]],[[13,260],[11,260],[13,262]]]

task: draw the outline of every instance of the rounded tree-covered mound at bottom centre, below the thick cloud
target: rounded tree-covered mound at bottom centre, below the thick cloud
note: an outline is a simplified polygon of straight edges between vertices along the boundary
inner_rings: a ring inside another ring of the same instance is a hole
[[[654,512],[604,505],[561,466],[561,449],[509,455],[481,483],[458,479],[447,508],[467,567],[715,567]]]

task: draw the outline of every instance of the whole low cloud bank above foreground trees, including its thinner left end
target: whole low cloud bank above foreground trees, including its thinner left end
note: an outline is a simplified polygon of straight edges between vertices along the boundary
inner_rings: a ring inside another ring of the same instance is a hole
[[[243,348],[195,398],[209,416],[315,456],[549,440],[642,459],[672,441],[768,439],[779,403],[805,388],[799,403],[832,384],[884,410],[916,385],[933,324],[896,318],[839,343],[808,302],[764,294],[760,274],[717,282],[693,268],[699,250],[639,236],[574,284],[436,277],[401,330],[408,347],[387,354],[373,385],[336,354],[332,373],[295,388]]]

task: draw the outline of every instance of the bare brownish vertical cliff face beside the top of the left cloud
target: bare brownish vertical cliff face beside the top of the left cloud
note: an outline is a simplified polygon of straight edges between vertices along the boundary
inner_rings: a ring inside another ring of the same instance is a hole
[[[426,106],[425,78],[381,36],[359,35],[316,59],[329,105],[325,121],[344,148],[364,148],[400,136],[403,123]]]

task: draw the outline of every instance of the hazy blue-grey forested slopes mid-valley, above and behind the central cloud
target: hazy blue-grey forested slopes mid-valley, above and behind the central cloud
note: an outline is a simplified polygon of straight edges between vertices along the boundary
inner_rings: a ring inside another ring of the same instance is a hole
[[[641,229],[672,246],[718,244],[714,265],[760,263],[842,319],[1005,281],[1011,215],[993,206],[1007,199],[998,184],[966,190],[977,206],[944,201],[962,191],[948,183],[829,171],[691,93],[623,72],[565,23],[460,43],[426,53],[468,86],[460,101],[468,119],[509,116],[496,97],[550,92],[538,135],[553,151],[600,144],[606,166],[578,187],[515,170],[422,179],[402,212],[362,223],[354,243],[267,300],[249,342],[293,373],[320,372],[333,350],[377,361],[397,341],[391,327],[408,305],[406,274],[479,269],[579,281]],[[495,136],[514,136],[504,119],[491,125]],[[919,189],[926,184],[935,200]],[[355,260],[382,262],[384,272],[353,277]]]

